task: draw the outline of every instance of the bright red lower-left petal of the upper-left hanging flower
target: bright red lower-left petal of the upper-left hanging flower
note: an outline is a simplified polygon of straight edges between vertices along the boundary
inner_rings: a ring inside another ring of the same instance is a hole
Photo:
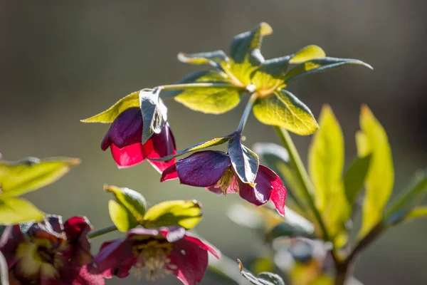
[[[137,165],[144,160],[142,144],[135,143],[120,149],[116,145],[111,145],[111,154],[119,168],[126,168]]]

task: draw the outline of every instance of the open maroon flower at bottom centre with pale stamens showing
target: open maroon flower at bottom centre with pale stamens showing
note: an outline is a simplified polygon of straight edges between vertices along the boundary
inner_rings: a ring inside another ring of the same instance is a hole
[[[125,239],[102,244],[94,261],[105,278],[125,278],[130,272],[141,277],[145,269],[149,280],[172,273],[183,284],[195,285],[208,266],[208,252],[219,259],[214,247],[182,227],[135,228]]]

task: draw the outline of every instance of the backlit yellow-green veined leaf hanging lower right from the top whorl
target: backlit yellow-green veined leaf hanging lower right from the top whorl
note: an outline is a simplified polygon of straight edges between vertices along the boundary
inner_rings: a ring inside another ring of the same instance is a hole
[[[310,109],[285,89],[259,98],[253,114],[265,125],[277,125],[297,135],[311,135],[319,128]]]

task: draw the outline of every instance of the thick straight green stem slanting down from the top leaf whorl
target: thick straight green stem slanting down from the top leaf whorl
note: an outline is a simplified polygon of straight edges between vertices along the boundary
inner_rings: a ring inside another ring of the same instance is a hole
[[[297,148],[295,147],[292,138],[290,138],[290,135],[287,130],[280,127],[274,128],[276,133],[278,133],[278,136],[283,146],[289,152],[290,163],[295,169],[297,179],[300,181],[300,185],[302,186],[302,191],[304,192],[304,195],[309,203],[310,208],[312,209],[313,214],[315,214],[315,218],[317,219],[320,228],[322,229],[324,239],[326,241],[331,241],[330,236],[327,233],[326,225],[323,222],[322,216],[317,210],[317,207],[311,195],[311,193],[314,192],[312,182],[310,181],[310,177],[308,176],[307,170],[305,170],[304,164],[302,163],[301,157],[297,152]]]

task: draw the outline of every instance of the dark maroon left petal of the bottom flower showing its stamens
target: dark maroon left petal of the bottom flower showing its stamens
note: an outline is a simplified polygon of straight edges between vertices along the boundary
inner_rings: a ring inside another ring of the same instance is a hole
[[[105,278],[111,278],[113,275],[125,278],[137,262],[137,258],[132,252],[131,242],[126,239],[115,239],[102,244],[93,261]]]

